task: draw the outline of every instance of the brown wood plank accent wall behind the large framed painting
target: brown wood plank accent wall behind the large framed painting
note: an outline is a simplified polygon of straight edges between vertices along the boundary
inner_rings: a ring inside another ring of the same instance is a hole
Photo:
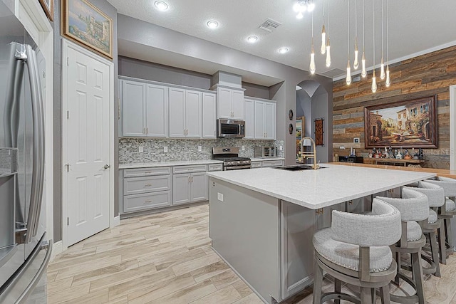
[[[377,80],[380,70],[377,69]],[[400,100],[437,95],[438,149],[426,149],[425,166],[450,168],[450,85],[456,85],[456,46],[390,65],[391,85],[378,82],[377,92],[371,91],[372,72],[358,83],[346,85],[345,78],[333,83],[333,156],[367,157],[364,149],[364,107]],[[452,130],[456,132],[456,130]],[[360,137],[359,143],[353,138]],[[345,146],[345,150],[339,147]],[[383,148],[383,147],[382,147]]]

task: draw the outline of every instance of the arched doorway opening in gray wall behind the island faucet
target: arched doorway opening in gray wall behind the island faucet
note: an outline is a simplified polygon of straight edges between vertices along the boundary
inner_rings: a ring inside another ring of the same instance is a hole
[[[329,142],[329,130],[332,130],[332,103],[328,100],[328,92],[315,80],[304,80],[296,85],[296,118],[304,117],[303,134],[315,139],[314,120],[323,118],[323,145],[316,148],[317,162],[331,162],[332,142]],[[332,131],[331,131],[332,132]],[[332,137],[331,137],[332,138]],[[331,145],[331,147],[329,147]]]

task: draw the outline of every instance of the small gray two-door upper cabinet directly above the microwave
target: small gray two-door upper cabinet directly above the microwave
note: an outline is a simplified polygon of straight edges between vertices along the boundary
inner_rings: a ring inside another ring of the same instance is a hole
[[[217,86],[217,118],[244,120],[244,89]]]

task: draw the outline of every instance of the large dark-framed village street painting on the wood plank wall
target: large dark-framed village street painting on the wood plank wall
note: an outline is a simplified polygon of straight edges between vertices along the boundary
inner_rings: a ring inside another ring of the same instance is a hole
[[[365,147],[437,148],[437,96],[364,108]]]

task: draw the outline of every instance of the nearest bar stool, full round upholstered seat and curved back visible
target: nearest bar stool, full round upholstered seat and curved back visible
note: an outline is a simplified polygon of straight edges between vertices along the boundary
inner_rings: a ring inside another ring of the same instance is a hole
[[[397,266],[389,246],[400,239],[398,209],[373,199],[371,215],[336,210],[332,215],[331,227],[314,234],[314,304],[331,299],[372,303],[375,288],[380,288],[382,303],[390,303],[388,283]],[[323,271],[334,278],[334,293],[321,294]],[[341,282],[359,286],[360,298],[341,293]]]

